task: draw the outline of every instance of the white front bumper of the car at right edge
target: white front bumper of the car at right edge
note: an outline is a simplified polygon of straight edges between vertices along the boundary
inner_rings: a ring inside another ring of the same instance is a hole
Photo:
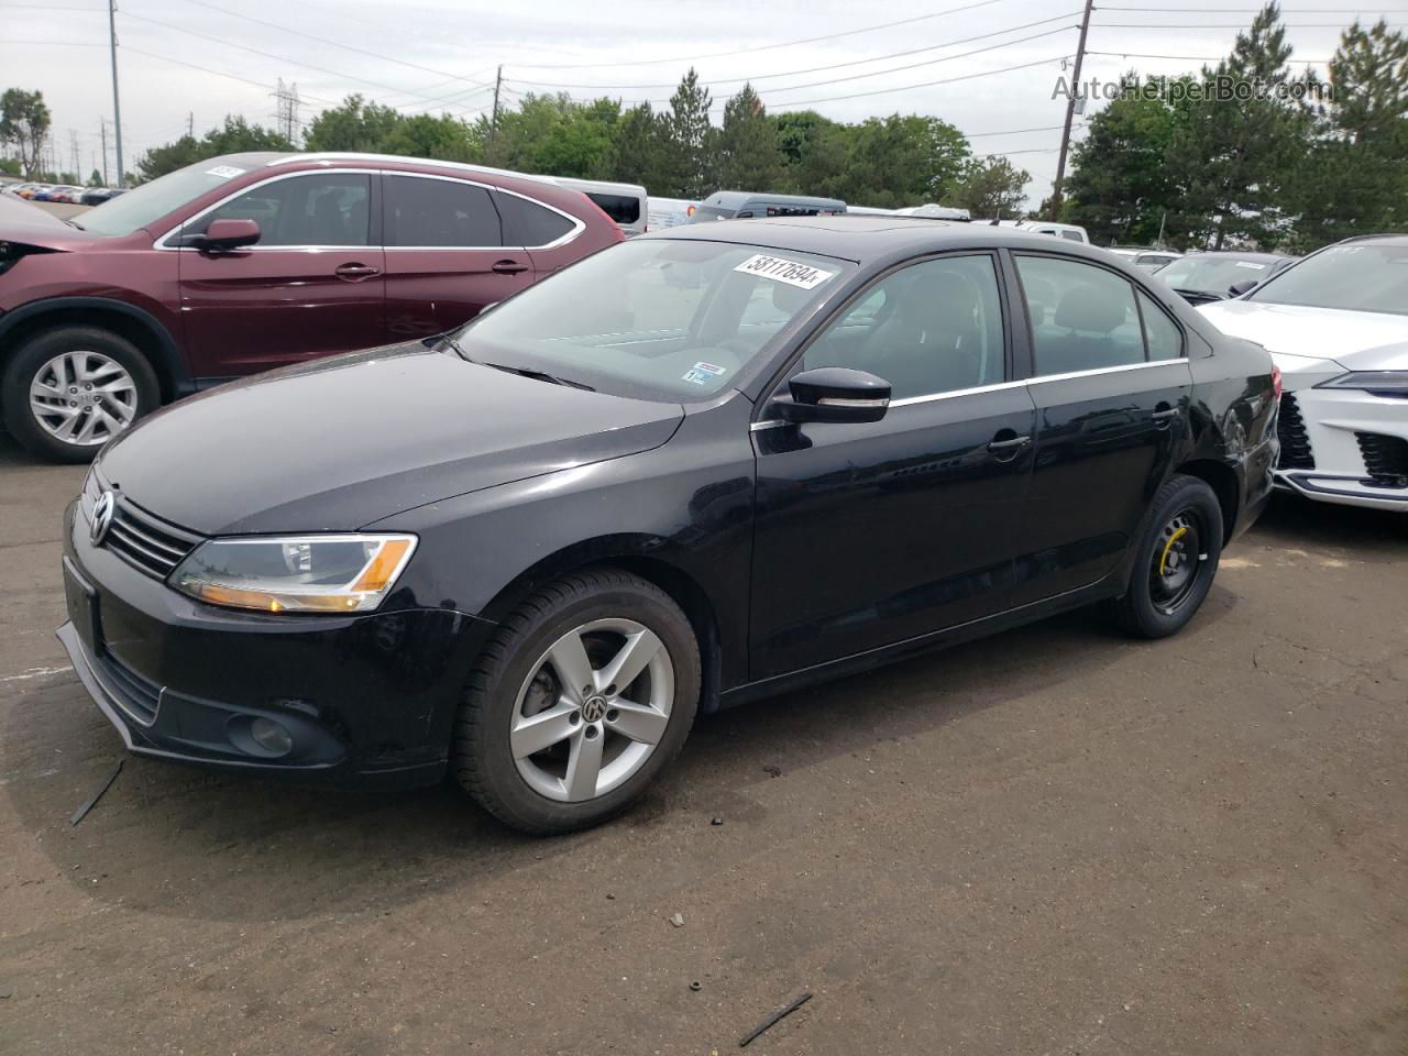
[[[1364,455],[1364,438],[1374,438],[1370,444],[1380,449],[1408,445],[1408,400],[1350,389],[1304,387],[1287,394],[1304,432],[1298,458],[1290,458],[1283,442],[1278,487],[1322,503],[1408,513],[1408,479],[1381,472],[1381,462],[1370,466]]]

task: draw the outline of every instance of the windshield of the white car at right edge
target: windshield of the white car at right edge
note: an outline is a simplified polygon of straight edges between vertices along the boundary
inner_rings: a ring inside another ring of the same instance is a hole
[[[1408,315],[1408,245],[1331,246],[1286,269],[1247,300]]]

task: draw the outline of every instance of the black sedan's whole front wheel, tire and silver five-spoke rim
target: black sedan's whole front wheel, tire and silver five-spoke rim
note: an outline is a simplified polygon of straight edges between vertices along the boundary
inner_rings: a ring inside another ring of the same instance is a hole
[[[698,696],[698,642],[669,594],[618,569],[574,573],[528,597],[484,648],[455,773],[524,832],[598,825],[679,755]]]

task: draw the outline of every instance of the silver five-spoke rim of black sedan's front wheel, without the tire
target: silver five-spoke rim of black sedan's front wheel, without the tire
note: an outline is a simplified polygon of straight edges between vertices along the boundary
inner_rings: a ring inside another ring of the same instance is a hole
[[[670,722],[674,665],[634,620],[593,620],[538,658],[514,701],[510,749],[529,787],[560,803],[636,773]]]

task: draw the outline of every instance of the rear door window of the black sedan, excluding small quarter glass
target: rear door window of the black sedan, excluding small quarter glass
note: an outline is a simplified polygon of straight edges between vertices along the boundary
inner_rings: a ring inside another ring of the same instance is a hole
[[[1126,279],[1081,260],[1018,256],[1038,375],[1145,360],[1135,290]]]

